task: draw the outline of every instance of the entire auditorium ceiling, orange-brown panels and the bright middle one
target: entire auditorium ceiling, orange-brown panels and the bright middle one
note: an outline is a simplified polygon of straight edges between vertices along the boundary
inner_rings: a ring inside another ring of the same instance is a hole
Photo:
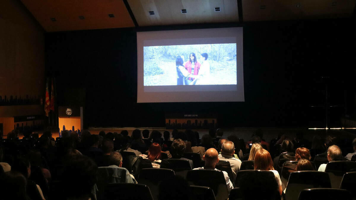
[[[47,32],[351,17],[356,0],[21,0]]]

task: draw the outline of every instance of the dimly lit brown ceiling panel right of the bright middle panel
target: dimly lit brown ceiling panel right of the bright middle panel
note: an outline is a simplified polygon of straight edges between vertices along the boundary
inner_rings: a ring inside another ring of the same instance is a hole
[[[356,0],[242,0],[244,21],[351,17]]]

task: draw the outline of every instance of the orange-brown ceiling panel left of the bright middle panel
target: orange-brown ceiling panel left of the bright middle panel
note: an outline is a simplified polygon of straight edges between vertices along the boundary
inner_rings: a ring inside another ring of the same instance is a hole
[[[122,0],[21,1],[48,32],[135,26]]]

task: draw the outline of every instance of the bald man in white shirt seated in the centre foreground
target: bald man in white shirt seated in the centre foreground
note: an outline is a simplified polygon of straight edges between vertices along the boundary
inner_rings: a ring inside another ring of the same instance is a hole
[[[217,169],[215,169],[215,165],[219,162],[219,154],[218,151],[216,151],[215,148],[210,148],[208,150],[206,150],[205,155],[203,156],[204,160],[205,160],[205,165],[204,167],[199,167],[199,168],[194,168],[193,170],[196,169],[213,169],[216,171],[219,171]],[[224,178],[226,181],[226,186],[227,186],[227,190],[230,192],[232,190],[232,188],[234,188],[234,186],[232,185],[229,175],[227,175],[227,172],[222,171],[224,174]]]

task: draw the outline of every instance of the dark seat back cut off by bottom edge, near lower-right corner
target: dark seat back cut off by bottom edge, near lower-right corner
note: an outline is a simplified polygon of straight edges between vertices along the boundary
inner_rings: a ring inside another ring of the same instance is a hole
[[[351,200],[351,194],[347,190],[334,188],[312,188],[304,189],[300,192],[298,200],[315,199],[342,199]]]

